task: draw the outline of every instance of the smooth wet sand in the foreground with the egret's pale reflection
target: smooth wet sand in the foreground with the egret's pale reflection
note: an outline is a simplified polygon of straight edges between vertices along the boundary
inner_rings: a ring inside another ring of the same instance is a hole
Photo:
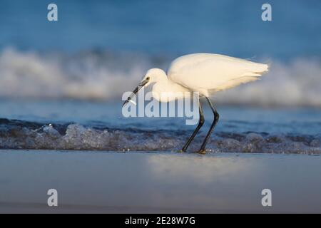
[[[321,212],[320,171],[318,155],[0,150],[0,212]]]

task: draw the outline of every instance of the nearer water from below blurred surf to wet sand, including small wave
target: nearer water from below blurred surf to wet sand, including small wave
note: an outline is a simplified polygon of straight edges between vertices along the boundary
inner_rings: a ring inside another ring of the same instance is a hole
[[[185,118],[123,118],[120,103],[0,102],[0,148],[46,150],[180,150],[195,125]],[[218,106],[208,152],[321,153],[321,110]],[[213,115],[190,145],[196,151]]]

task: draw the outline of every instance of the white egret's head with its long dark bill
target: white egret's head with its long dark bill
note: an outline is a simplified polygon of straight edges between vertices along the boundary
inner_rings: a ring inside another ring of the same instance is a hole
[[[133,90],[133,93],[131,94],[131,96],[129,96],[127,98],[127,100],[123,103],[123,105],[126,105],[126,103],[129,102],[129,100],[131,100],[131,98],[133,98],[134,95],[136,95],[138,93],[139,90],[141,90],[141,88],[144,88],[146,86],[149,86],[153,83],[158,83],[158,82],[162,82],[162,81],[167,81],[167,76],[165,71],[159,69],[159,68],[151,68],[150,70],[148,70],[145,74],[145,76],[143,76],[141,82],[138,84],[138,86],[135,88],[135,90]]]

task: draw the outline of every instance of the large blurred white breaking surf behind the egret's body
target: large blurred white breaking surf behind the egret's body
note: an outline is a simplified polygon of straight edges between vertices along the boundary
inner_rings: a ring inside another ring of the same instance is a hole
[[[0,98],[121,99],[148,68],[166,68],[171,58],[134,53],[83,51],[0,52]],[[272,61],[262,80],[215,95],[218,103],[321,107],[320,59]]]

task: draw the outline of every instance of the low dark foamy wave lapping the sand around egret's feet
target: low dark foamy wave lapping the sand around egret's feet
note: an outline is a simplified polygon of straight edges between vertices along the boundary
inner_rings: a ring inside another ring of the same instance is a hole
[[[0,149],[178,151],[190,134],[0,119]],[[203,134],[195,138],[190,151],[199,149]],[[321,135],[218,132],[208,143],[208,152],[321,154]]]

